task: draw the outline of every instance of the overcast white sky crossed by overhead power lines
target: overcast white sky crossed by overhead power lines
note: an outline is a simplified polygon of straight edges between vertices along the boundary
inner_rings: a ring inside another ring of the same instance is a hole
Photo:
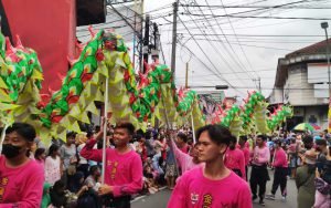
[[[299,0],[196,0],[199,6],[278,6]],[[151,12],[152,21],[158,22],[161,31],[161,42],[166,56],[166,63],[170,66],[173,0],[145,0],[145,12]],[[183,4],[194,4],[194,0],[181,0]],[[168,6],[168,7],[167,7]],[[261,15],[281,18],[328,18],[331,19],[330,0],[311,0],[305,3],[291,4],[301,9],[273,9],[260,10],[259,13],[241,13],[237,15]],[[302,9],[303,7],[319,9]],[[162,10],[159,10],[159,9]],[[178,44],[175,82],[184,85],[185,62],[190,62],[189,85],[212,86],[216,84],[231,84],[237,90],[226,91],[227,96],[246,96],[248,90],[257,87],[253,79],[260,77],[261,89],[268,96],[275,83],[277,61],[286,54],[298,49],[322,41],[324,31],[320,28],[322,20],[297,19],[237,19],[212,15],[224,15],[258,8],[225,9],[220,7],[181,7],[178,24],[179,41],[191,50]],[[204,18],[207,18],[206,21]],[[195,20],[195,21],[192,21]],[[331,21],[329,21],[331,24]],[[190,32],[186,30],[186,28]],[[191,34],[194,34],[191,38]],[[226,34],[214,35],[214,34]],[[205,35],[207,34],[207,35]],[[235,35],[236,34],[236,35]],[[247,37],[249,34],[249,37]],[[281,35],[281,37],[260,37]],[[322,35],[322,37],[284,37],[284,35]],[[206,39],[210,39],[207,41]],[[196,42],[197,43],[196,43]],[[200,45],[200,46],[199,46]],[[203,51],[202,51],[202,50]],[[207,58],[204,55],[207,55]],[[190,59],[191,56],[191,59]],[[201,60],[199,61],[196,56]],[[211,62],[209,61],[211,60]],[[161,59],[162,61],[162,59]],[[203,62],[203,63],[201,63]],[[207,69],[210,67],[210,69]],[[227,83],[228,82],[228,83]]]

